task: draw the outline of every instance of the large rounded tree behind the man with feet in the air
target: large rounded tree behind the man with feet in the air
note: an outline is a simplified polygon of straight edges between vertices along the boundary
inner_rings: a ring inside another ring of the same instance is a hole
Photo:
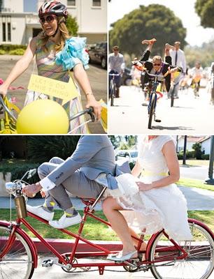
[[[155,37],[155,54],[162,55],[165,43],[173,44],[180,40],[185,45],[186,29],[181,20],[166,6],[151,4],[140,6],[111,25],[110,49],[119,45],[122,53],[132,56],[142,54],[141,41]]]

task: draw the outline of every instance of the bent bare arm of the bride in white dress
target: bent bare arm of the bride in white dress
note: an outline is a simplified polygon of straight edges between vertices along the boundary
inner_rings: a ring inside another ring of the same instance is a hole
[[[176,155],[176,149],[175,149],[175,145],[173,144],[173,141],[166,142],[166,144],[164,144],[162,152],[166,159],[166,164],[169,168],[169,176],[154,181],[150,184],[138,182],[137,184],[140,190],[143,191],[143,190],[150,190],[152,188],[168,186],[169,184],[175,183],[176,181],[179,180],[180,169],[179,169],[178,158]]]

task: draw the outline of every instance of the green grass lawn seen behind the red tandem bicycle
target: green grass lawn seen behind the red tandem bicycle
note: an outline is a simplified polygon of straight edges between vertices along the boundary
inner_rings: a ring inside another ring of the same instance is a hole
[[[62,211],[55,211],[55,218],[59,219],[62,215]],[[81,215],[83,215],[83,211],[79,211]],[[12,220],[15,220],[15,209],[12,211]],[[96,211],[96,216],[99,218],[104,218],[104,213],[102,211]],[[194,218],[197,220],[201,220],[201,222],[205,223],[210,227],[212,231],[214,231],[214,211],[189,211],[188,216],[190,218]],[[10,210],[9,209],[0,209],[0,218],[1,220],[9,220],[10,218]],[[66,234],[62,234],[62,232],[45,225],[44,223],[39,222],[38,220],[27,217],[27,221],[36,229],[39,234],[41,234],[45,239],[67,239]],[[73,233],[78,232],[79,225],[74,225],[70,227]],[[35,237],[34,234],[31,234],[28,229],[23,226],[23,229],[29,234],[31,237]],[[116,234],[112,229],[108,228],[106,225],[99,223],[99,221],[94,220],[93,218],[88,218],[85,223],[85,227],[83,230],[83,237],[88,240],[104,240],[104,241],[115,241],[119,240]],[[147,238],[148,239],[148,238]]]

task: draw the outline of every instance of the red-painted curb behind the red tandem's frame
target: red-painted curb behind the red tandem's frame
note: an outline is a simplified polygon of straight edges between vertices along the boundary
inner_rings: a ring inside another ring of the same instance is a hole
[[[50,252],[48,248],[39,240],[36,238],[32,238],[32,241],[34,241],[34,244],[36,246],[36,249],[40,253],[47,253]],[[75,240],[71,239],[45,239],[57,252],[59,253],[65,253],[69,252],[73,249]],[[103,248],[106,248],[107,250],[113,251],[113,250],[122,250],[122,243],[120,241],[91,241],[94,244],[97,244]],[[96,252],[98,249],[94,248],[93,246],[90,246],[90,244],[85,243],[83,241],[80,241],[78,243],[78,252]]]

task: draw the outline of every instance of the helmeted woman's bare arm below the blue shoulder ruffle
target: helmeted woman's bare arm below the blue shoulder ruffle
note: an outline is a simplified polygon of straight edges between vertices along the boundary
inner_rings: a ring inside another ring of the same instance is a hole
[[[90,85],[90,81],[88,80],[87,73],[83,68],[82,63],[76,64],[73,68],[73,75],[78,84],[80,85],[81,89],[85,93],[85,97],[87,99],[87,105],[85,107],[93,107],[94,114],[96,115],[97,119],[101,118],[101,105],[95,99],[92,93],[92,87]]]

